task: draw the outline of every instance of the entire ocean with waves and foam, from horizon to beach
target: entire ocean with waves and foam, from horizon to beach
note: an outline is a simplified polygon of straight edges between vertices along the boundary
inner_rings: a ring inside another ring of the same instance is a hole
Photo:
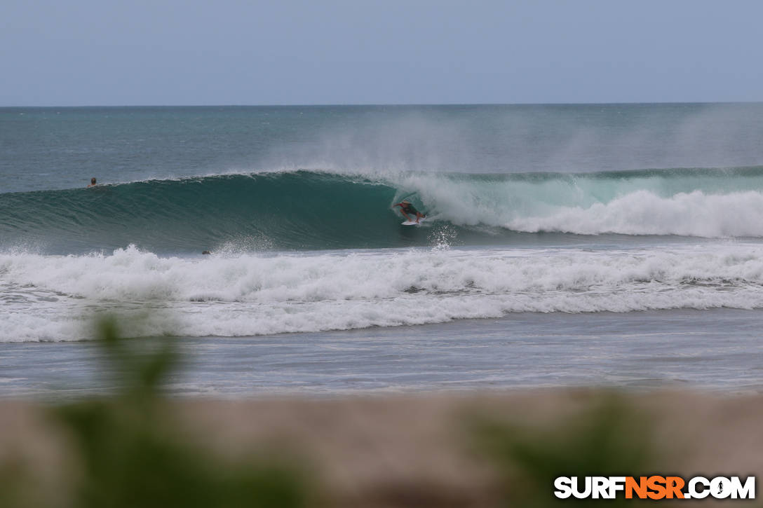
[[[0,108],[0,394],[108,390],[105,314],[177,338],[179,395],[761,391],[761,139],[757,103]]]

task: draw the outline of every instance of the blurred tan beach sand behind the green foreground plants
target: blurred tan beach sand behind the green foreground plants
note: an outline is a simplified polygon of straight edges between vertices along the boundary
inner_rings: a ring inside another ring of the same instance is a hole
[[[603,407],[617,410],[601,412]],[[549,389],[173,399],[164,411],[177,436],[223,458],[255,454],[307,471],[320,491],[321,504],[327,506],[499,506],[511,501],[527,475],[521,465],[504,468],[479,444],[485,442],[479,429],[496,423],[517,442],[548,445],[546,452],[557,458],[574,454],[570,450],[576,449],[576,439],[588,439],[588,431],[581,429],[597,426],[610,438],[622,439],[626,452],[632,445],[649,449],[647,461],[633,462],[648,470],[586,471],[588,459],[567,456],[565,460],[580,469],[556,471],[558,475],[688,478],[763,473],[763,396],[758,395]],[[572,448],[565,448],[567,444]],[[590,443],[578,445],[583,454],[595,457],[599,452]],[[607,446],[600,452],[617,454],[617,443]],[[37,486],[65,496],[76,471],[70,454],[71,437],[50,419],[50,406],[20,400],[0,404],[0,465],[24,464],[33,471]],[[600,463],[606,465],[607,460]],[[540,506],[552,498],[552,491],[552,483],[541,485],[523,503],[529,499]],[[708,501],[701,503],[707,506]]]

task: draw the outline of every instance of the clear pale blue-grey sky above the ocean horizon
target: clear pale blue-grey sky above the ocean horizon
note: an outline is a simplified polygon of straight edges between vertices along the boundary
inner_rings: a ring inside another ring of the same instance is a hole
[[[2,0],[0,106],[763,101],[763,2]]]

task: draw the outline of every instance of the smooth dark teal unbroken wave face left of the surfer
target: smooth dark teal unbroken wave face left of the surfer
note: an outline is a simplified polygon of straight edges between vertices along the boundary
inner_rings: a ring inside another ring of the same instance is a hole
[[[221,175],[0,196],[3,243],[88,252],[385,246],[394,189],[319,172]]]

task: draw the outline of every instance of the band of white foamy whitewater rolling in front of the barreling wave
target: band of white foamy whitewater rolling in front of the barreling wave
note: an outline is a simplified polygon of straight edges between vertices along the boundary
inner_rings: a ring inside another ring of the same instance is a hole
[[[203,259],[131,246],[108,256],[0,254],[0,275],[0,342],[87,339],[101,312],[129,318],[125,336],[255,336],[518,312],[763,307],[763,248],[736,242]]]

